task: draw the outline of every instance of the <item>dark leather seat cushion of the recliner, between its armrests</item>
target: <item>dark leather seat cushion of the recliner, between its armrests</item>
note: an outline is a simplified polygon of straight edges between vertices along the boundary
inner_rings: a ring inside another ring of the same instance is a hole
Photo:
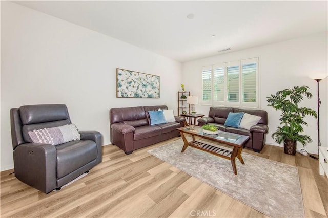
[[[57,150],[57,178],[64,177],[97,158],[97,146],[91,140],[76,140],[55,147]]]

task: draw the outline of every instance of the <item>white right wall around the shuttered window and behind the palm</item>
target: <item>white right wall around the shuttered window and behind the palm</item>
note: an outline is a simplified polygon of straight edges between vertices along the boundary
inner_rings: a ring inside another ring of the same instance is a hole
[[[201,97],[201,67],[216,63],[230,62],[241,59],[259,57],[260,74],[260,108],[269,114],[269,134],[267,144],[277,145],[271,138],[279,125],[280,112],[267,106],[267,97],[277,91],[307,85],[313,94],[301,106],[310,107],[317,111],[317,82],[308,76],[313,72],[327,74],[327,32],[307,37],[282,41],[271,45],[236,51],[228,54],[183,63],[182,83],[193,95]],[[233,48],[232,48],[233,49]],[[328,146],[328,79],[320,82],[320,140],[322,146]],[[208,115],[209,106],[197,105],[197,112]],[[305,119],[309,126],[305,127],[305,135],[313,142],[304,147],[308,152],[318,154],[317,120],[314,117]],[[283,145],[280,145],[283,146]],[[303,148],[298,143],[297,148]]]

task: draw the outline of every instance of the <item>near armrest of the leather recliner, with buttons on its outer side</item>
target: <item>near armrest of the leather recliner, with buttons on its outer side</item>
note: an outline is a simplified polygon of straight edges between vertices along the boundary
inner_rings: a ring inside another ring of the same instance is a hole
[[[20,144],[15,148],[13,157],[17,179],[45,193],[57,188],[55,146]]]

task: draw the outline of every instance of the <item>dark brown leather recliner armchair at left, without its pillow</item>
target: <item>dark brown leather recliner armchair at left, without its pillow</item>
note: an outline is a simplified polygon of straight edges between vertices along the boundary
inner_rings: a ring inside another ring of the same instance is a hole
[[[101,162],[102,136],[79,132],[80,140],[33,143],[28,132],[72,124],[66,105],[26,105],[10,110],[15,177],[49,193]]]

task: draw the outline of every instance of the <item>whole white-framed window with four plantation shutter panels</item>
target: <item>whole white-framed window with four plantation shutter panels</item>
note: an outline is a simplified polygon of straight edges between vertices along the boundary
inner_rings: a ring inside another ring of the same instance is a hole
[[[202,103],[258,107],[258,58],[203,67]]]

